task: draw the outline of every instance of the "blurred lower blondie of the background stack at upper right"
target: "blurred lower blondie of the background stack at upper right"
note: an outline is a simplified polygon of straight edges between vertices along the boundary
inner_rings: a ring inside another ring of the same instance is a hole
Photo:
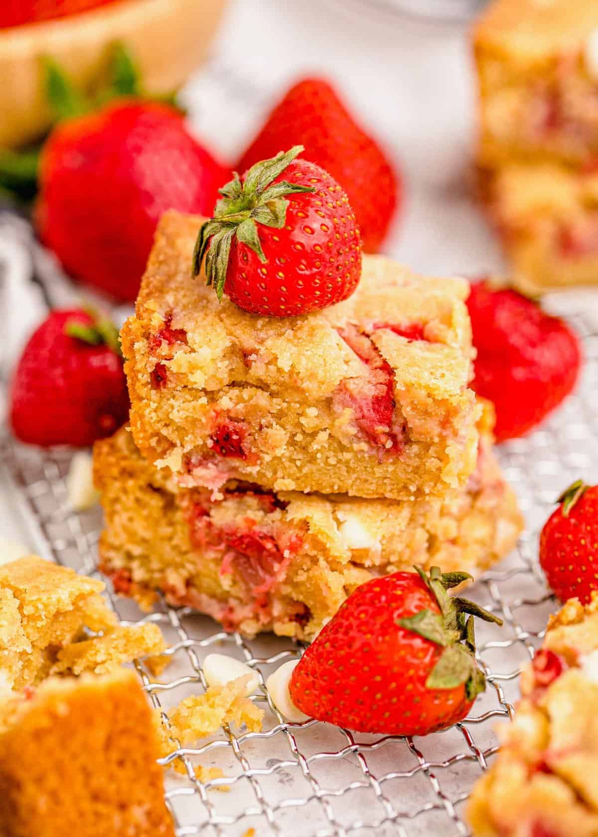
[[[481,178],[514,285],[534,294],[598,283],[598,170],[511,162]]]

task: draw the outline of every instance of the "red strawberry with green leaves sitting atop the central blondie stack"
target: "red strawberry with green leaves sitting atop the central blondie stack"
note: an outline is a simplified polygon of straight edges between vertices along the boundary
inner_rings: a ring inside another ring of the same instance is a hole
[[[294,146],[220,189],[199,230],[193,272],[245,311],[296,316],[347,299],[361,274],[361,241],[347,195]],[[285,197],[288,196],[288,197]]]

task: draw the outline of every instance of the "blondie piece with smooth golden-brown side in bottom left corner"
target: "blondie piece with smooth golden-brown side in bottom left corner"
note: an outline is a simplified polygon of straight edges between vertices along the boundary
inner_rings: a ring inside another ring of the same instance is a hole
[[[51,677],[0,702],[0,834],[173,837],[137,675]]]

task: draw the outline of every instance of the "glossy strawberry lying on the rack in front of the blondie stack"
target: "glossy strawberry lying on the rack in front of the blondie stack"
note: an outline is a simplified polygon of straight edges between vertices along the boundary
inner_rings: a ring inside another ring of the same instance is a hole
[[[426,735],[461,721],[486,688],[467,614],[502,624],[446,593],[467,578],[432,567],[358,587],[293,671],[295,706],[358,732]]]

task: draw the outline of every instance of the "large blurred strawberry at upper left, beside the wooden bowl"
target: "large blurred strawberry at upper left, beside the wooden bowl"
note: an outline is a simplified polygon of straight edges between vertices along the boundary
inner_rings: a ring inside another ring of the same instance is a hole
[[[44,145],[39,233],[76,279],[134,300],[162,212],[209,215],[227,177],[178,110],[109,105]]]

